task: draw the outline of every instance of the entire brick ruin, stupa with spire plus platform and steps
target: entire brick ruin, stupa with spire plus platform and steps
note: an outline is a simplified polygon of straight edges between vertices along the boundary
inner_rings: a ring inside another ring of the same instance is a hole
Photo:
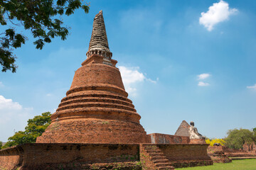
[[[187,134],[146,134],[112,60],[102,11],[94,18],[86,56],[43,135],[36,143],[0,150],[0,169],[153,170],[213,164],[208,145]]]

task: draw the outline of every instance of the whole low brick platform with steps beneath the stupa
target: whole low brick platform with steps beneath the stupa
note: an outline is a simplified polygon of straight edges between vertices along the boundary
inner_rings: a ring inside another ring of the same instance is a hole
[[[157,148],[157,151],[147,150],[149,147]],[[191,166],[193,162],[212,164],[207,147],[203,144],[33,143],[0,150],[0,169],[104,169],[107,166],[112,169],[117,166],[123,169],[146,169],[145,166],[149,166],[148,169],[154,166],[156,169],[174,169],[171,166]],[[149,157],[145,158],[147,154]],[[154,157],[158,154],[165,159]]]

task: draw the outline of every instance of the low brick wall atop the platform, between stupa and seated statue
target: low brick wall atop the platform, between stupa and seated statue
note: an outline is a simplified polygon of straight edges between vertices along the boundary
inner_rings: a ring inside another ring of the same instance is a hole
[[[151,133],[149,137],[151,138],[151,143],[154,144],[188,144],[190,142],[189,137],[186,136]]]

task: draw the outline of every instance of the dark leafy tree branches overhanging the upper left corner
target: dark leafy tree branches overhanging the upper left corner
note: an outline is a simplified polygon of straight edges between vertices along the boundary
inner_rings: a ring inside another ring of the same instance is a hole
[[[16,33],[16,28],[21,26],[30,30],[36,38],[34,45],[41,50],[52,38],[66,39],[68,28],[63,26],[60,16],[70,16],[78,8],[88,13],[89,6],[82,4],[82,0],[1,0],[0,24],[6,26],[6,30],[0,33],[1,71],[16,72],[13,50],[26,42],[26,36]]]

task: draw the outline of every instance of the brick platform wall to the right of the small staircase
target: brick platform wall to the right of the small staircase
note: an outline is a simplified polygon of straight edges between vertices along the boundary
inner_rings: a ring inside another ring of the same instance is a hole
[[[210,160],[208,144],[157,144],[169,161]]]

